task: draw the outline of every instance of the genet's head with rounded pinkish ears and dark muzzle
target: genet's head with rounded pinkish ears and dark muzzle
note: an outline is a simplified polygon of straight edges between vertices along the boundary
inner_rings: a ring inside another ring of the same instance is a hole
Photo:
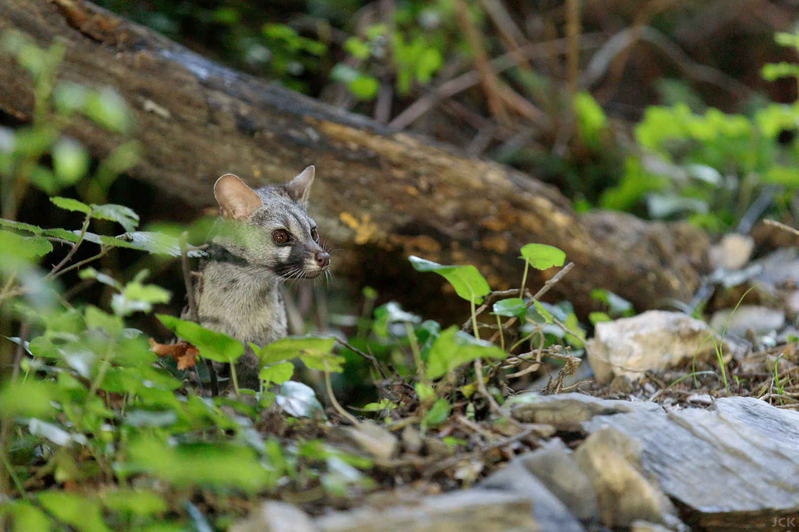
[[[315,278],[328,268],[330,255],[308,216],[313,175],[309,166],[288,183],[257,190],[233,174],[217,179],[225,245],[243,266],[286,279]]]

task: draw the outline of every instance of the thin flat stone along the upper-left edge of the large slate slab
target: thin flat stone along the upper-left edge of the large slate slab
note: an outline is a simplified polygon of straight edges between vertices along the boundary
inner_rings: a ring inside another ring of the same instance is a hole
[[[559,393],[554,396],[518,396],[511,412],[524,423],[550,424],[559,431],[581,432],[582,424],[594,416],[621,412],[665,412],[651,401],[599,399],[582,393]]]

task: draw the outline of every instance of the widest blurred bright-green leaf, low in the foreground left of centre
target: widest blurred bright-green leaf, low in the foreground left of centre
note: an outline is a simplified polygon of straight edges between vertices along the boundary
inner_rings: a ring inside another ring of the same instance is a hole
[[[268,471],[255,452],[229,443],[183,443],[171,446],[143,437],[128,448],[129,463],[178,486],[237,487],[256,491],[268,483]]]

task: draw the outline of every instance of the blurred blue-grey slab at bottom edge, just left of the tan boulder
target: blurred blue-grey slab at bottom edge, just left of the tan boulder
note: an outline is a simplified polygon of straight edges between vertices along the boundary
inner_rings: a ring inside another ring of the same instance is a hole
[[[584,532],[577,518],[566,510],[547,487],[527,471],[523,457],[512,459],[480,483],[483,489],[503,490],[523,496],[531,503],[536,530],[541,532]],[[590,489],[590,486],[589,486]],[[594,506],[595,508],[595,506]]]

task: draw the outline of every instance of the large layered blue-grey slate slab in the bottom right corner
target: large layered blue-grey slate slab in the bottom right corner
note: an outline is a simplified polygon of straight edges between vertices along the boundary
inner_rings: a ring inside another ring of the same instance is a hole
[[[799,413],[750,397],[709,409],[595,416],[586,432],[614,428],[642,447],[641,467],[712,530],[769,530],[799,513]],[[759,527],[759,528],[758,528]]]

